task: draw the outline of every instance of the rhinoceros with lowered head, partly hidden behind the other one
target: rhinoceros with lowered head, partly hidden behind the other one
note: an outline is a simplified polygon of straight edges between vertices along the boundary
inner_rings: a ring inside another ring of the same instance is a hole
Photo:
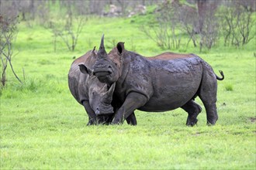
[[[68,73],[68,87],[75,100],[85,107],[89,117],[88,125],[109,124],[113,114],[111,103],[115,83],[108,87],[92,74],[91,67],[97,59],[96,53],[94,48],[75,59]],[[101,113],[104,115],[100,115]],[[128,124],[137,124],[134,114],[127,117],[126,121]]]

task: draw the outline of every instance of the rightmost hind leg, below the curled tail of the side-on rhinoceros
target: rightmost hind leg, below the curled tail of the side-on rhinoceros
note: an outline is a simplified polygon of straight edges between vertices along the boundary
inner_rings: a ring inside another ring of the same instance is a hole
[[[202,83],[199,89],[199,97],[206,107],[207,124],[215,124],[218,120],[216,109],[217,80],[215,73],[205,66],[202,74]]]

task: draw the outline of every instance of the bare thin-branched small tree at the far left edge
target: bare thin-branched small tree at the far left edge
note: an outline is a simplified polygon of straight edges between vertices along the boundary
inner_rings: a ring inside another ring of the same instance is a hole
[[[6,82],[6,69],[7,66],[11,66],[12,73],[14,76],[16,76],[16,79],[19,80],[20,83],[22,81],[19,79],[19,76],[17,76],[16,72],[13,69],[12,66],[12,56],[13,56],[13,44],[16,40],[17,36],[17,23],[18,23],[18,17],[15,17],[14,19],[4,19],[2,15],[0,15],[0,58],[1,58],[1,83],[2,86],[5,86]]]

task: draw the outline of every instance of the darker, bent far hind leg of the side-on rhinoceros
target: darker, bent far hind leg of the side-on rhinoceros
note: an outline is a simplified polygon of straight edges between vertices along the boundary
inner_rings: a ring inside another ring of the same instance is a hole
[[[189,100],[188,103],[182,106],[182,109],[189,114],[186,125],[194,126],[198,121],[196,117],[202,111],[202,107],[200,107],[199,104],[196,104],[195,101]]]

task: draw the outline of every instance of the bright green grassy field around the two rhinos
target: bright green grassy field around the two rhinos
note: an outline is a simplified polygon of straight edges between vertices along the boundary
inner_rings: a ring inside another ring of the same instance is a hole
[[[51,32],[33,23],[19,24],[13,66],[1,91],[0,169],[255,169],[255,39],[235,49],[221,44],[196,53],[218,74],[219,121],[206,126],[205,110],[197,126],[185,126],[181,109],[164,113],[136,111],[138,125],[86,126],[88,117],[67,87],[73,57],[99,47],[105,33],[107,51],[116,42],[144,56],[165,50],[138,27],[139,19],[88,19],[77,49],[69,52]],[[185,42],[184,42],[185,43]],[[197,100],[202,106],[202,103]]]

